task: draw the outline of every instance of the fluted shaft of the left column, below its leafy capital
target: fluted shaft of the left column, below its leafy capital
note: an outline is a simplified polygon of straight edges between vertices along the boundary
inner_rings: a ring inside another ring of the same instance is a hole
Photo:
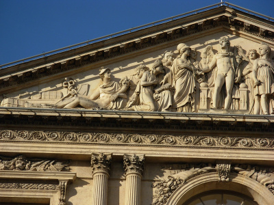
[[[93,184],[92,205],[106,205],[108,200],[108,174],[96,172],[93,174]]]

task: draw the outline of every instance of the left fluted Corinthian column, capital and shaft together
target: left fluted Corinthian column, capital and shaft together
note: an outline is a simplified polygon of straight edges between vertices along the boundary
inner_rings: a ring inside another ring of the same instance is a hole
[[[93,170],[93,203],[92,205],[106,205],[108,202],[108,178],[112,154],[92,153],[91,167]]]

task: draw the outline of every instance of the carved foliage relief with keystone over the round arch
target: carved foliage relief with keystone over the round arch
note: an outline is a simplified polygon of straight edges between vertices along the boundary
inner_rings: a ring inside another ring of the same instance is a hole
[[[260,182],[274,194],[274,169],[272,167],[259,167],[252,165],[221,164],[175,164],[164,166],[164,171],[169,171],[166,178],[157,178],[152,187],[155,189],[152,205],[163,205],[171,194],[182,184],[200,174],[217,172],[219,182],[228,182],[229,173],[234,172]]]

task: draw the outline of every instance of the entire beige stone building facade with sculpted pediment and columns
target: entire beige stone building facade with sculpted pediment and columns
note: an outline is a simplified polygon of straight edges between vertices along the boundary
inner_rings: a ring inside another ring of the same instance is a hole
[[[0,70],[0,202],[273,204],[273,33],[223,5]]]

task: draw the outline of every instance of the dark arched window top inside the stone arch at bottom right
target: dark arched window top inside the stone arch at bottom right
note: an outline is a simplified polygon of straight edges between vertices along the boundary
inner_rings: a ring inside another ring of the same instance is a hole
[[[206,191],[191,197],[182,205],[258,205],[247,195],[234,191]]]

